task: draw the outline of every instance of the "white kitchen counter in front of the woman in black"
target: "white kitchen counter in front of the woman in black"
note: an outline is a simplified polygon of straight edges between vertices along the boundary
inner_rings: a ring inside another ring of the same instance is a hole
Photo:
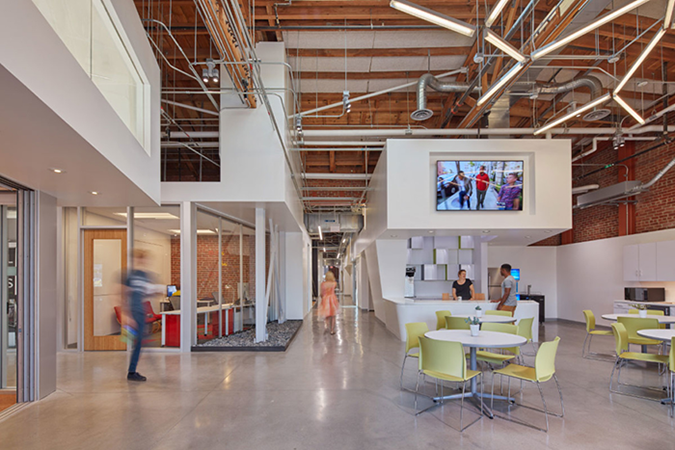
[[[411,322],[426,322],[429,330],[436,329],[436,311],[450,311],[453,315],[474,314],[476,306],[483,311],[497,309],[497,303],[486,300],[440,300],[440,299],[411,299],[385,298],[385,314],[387,329],[402,341],[405,340],[405,324]],[[532,338],[539,341],[539,303],[530,300],[521,300],[516,308],[517,320],[533,317]],[[518,323],[518,322],[516,322]]]

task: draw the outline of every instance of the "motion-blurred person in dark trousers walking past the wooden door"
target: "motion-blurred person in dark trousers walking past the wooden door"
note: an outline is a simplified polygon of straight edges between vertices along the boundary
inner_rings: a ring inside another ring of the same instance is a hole
[[[126,293],[129,299],[128,314],[131,318],[131,327],[133,329],[134,350],[131,353],[131,361],[129,362],[129,371],[127,373],[127,380],[131,381],[145,381],[146,377],[136,371],[138,359],[141,356],[141,348],[143,346],[143,338],[145,335],[145,302],[148,297],[162,292],[161,288],[153,284],[150,276],[144,270],[147,264],[148,255],[144,250],[134,250],[134,267],[127,274],[124,280],[126,286]]]

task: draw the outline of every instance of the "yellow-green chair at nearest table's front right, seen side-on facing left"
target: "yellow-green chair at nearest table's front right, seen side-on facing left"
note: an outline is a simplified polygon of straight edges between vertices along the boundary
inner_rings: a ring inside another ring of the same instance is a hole
[[[495,375],[501,375],[502,377],[515,378],[521,381],[529,381],[537,385],[539,389],[539,395],[541,396],[541,401],[544,404],[544,409],[527,408],[533,409],[535,411],[543,412],[546,416],[546,429],[539,428],[535,425],[528,424],[525,422],[518,421],[522,425],[526,425],[532,428],[535,428],[540,431],[545,431],[548,433],[548,416],[553,415],[556,417],[565,416],[565,404],[562,399],[562,390],[560,389],[560,383],[558,383],[558,377],[555,375],[555,357],[558,352],[558,344],[560,343],[560,338],[556,337],[551,342],[544,342],[539,346],[537,351],[537,356],[534,359],[534,367],[521,366],[518,364],[509,364],[503,369],[495,370],[492,372],[492,399],[491,399],[491,408],[494,406],[494,392],[495,392]],[[546,406],[546,399],[544,398],[544,391],[541,389],[541,383],[549,381],[551,378],[555,381],[555,385],[558,388],[558,395],[560,395],[560,414],[552,413],[548,410]],[[524,405],[519,405],[524,406]],[[508,420],[508,419],[507,419]]]

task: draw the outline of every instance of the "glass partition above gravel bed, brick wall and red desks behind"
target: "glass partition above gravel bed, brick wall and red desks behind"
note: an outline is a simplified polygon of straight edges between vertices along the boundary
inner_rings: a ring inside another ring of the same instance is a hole
[[[198,210],[197,342],[254,325],[255,230]]]

